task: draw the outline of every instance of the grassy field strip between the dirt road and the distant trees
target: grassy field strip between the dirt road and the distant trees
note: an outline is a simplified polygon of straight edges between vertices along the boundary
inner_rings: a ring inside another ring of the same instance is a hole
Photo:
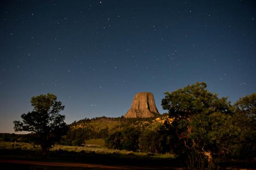
[[[93,140],[89,142],[93,143]],[[101,143],[102,140],[96,140],[95,142]],[[144,167],[178,166],[176,159],[171,154],[137,153],[100,147],[54,145],[50,149],[47,158],[42,158],[41,148],[38,145],[17,142],[0,142],[0,159]]]

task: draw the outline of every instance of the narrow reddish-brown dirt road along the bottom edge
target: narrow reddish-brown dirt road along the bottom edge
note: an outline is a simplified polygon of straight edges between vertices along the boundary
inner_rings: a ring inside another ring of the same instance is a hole
[[[102,168],[102,169],[114,169],[114,170],[182,170],[182,168],[176,167],[138,167],[138,166],[121,166],[121,165],[102,165],[102,164],[84,164],[73,162],[47,162],[47,161],[23,161],[14,159],[0,159],[0,163],[12,163],[12,164],[30,164],[41,166],[58,166],[58,167],[87,167],[87,168]]]

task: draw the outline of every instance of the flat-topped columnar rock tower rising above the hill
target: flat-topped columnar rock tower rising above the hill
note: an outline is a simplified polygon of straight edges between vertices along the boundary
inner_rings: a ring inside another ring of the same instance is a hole
[[[140,92],[134,96],[131,109],[125,114],[125,118],[148,118],[160,115],[154,103],[151,92]]]

